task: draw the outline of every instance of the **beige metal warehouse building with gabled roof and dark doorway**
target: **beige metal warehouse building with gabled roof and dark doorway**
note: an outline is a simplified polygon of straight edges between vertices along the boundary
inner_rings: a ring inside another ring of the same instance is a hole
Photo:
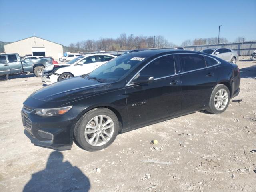
[[[6,53],[18,53],[20,56],[51,56],[58,59],[63,55],[63,46],[36,36],[12,42],[4,46]]]

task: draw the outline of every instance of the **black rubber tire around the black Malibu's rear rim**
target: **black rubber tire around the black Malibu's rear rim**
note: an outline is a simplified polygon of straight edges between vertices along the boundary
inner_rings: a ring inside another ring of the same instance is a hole
[[[226,92],[228,93],[228,102],[226,104],[226,107],[223,108],[222,110],[218,110],[216,107],[215,107],[215,96],[217,94],[217,92],[221,89],[224,89],[226,90]],[[212,90],[212,94],[211,94],[211,97],[210,97],[210,101],[209,101],[209,108],[206,109],[206,111],[212,113],[212,114],[220,114],[222,112],[224,112],[227,108],[228,108],[228,104],[229,104],[229,101],[230,101],[230,92],[229,92],[229,89],[227,88],[227,86],[223,85],[223,84],[218,84],[215,86],[215,88]]]

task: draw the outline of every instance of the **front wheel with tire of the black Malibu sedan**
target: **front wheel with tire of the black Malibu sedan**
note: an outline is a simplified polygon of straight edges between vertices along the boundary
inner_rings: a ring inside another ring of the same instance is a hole
[[[108,147],[118,134],[118,119],[107,108],[95,108],[86,112],[76,123],[74,137],[87,151]]]

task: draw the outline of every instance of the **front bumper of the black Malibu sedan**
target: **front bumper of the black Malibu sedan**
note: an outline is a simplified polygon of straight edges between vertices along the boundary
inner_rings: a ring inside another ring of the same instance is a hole
[[[55,150],[71,149],[74,118],[68,114],[44,118],[34,112],[34,109],[26,106],[21,110],[24,134],[31,143]]]

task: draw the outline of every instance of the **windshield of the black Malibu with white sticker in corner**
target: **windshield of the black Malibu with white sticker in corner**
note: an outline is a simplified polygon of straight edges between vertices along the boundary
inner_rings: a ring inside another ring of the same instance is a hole
[[[128,75],[144,59],[134,56],[119,56],[92,71],[87,78],[102,82],[115,82]]]

